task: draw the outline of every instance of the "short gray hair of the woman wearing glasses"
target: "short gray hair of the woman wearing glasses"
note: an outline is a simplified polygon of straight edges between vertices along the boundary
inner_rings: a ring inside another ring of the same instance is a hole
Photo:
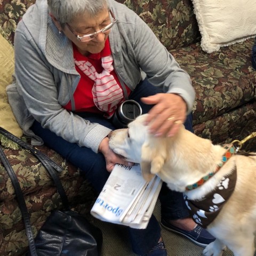
[[[86,13],[93,17],[103,9],[109,9],[108,0],[47,0],[49,10],[61,25]]]

